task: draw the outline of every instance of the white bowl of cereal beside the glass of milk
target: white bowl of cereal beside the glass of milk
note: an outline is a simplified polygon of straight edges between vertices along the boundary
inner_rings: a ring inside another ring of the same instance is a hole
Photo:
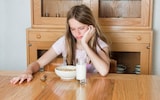
[[[55,73],[61,79],[65,80],[74,79],[76,77],[76,67],[72,65],[56,67]]]

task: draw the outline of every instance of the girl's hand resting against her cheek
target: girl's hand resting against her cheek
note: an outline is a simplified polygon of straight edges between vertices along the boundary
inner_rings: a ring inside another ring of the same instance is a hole
[[[86,31],[86,33],[84,33],[84,36],[81,40],[82,43],[88,43],[88,41],[91,39],[91,37],[93,36],[93,34],[95,33],[95,28],[90,25],[89,29]]]

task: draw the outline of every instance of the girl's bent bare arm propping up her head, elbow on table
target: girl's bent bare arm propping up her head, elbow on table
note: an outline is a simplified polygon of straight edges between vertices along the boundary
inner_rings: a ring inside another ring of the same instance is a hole
[[[109,58],[109,49],[108,47],[102,48],[107,55],[100,50],[98,52],[98,55],[88,46],[88,41],[95,33],[95,28],[91,25],[89,26],[88,31],[84,34],[81,44],[85,51],[87,52],[89,58],[91,59],[91,62],[95,66],[96,70],[102,75],[105,76],[109,72],[110,68],[110,58]]]

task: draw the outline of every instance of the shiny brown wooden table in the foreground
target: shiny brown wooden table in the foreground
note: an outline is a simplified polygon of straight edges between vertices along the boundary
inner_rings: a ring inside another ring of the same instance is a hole
[[[54,72],[38,72],[33,81],[12,85],[20,72],[0,71],[0,100],[160,100],[160,76],[87,74],[87,84],[61,80]],[[46,74],[47,80],[40,78]]]

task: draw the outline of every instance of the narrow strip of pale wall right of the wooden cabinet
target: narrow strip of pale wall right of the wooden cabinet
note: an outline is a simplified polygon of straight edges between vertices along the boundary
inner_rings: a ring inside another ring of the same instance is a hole
[[[160,75],[160,0],[154,0],[153,74]]]

